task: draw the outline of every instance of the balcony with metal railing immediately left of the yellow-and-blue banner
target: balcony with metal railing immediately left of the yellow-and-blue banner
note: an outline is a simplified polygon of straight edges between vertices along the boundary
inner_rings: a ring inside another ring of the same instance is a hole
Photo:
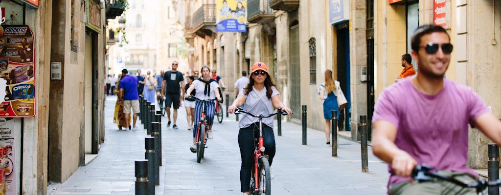
[[[191,33],[200,36],[216,32],[216,5],[204,4],[193,13],[191,18]]]

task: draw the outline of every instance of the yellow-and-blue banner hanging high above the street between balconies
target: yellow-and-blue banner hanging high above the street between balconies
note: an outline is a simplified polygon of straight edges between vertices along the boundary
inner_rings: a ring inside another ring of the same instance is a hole
[[[216,31],[247,31],[247,0],[216,1]]]

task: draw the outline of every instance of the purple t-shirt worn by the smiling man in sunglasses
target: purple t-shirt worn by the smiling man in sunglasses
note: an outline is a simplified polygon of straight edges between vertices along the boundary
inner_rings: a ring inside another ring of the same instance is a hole
[[[444,79],[438,94],[426,95],[416,90],[411,79],[404,79],[383,90],[372,122],[395,125],[395,144],[418,164],[477,175],[466,166],[468,123],[486,112],[483,101],[467,86]],[[392,174],[390,165],[388,171],[388,186],[410,180]]]

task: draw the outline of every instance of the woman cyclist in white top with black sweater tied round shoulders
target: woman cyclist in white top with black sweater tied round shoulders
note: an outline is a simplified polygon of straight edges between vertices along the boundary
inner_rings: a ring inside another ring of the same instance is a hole
[[[214,99],[217,94],[217,100],[221,101],[221,97],[219,96],[219,85],[215,80],[210,78],[210,68],[207,65],[203,65],[201,70],[202,77],[195,79],[193,83],[189,86],[188,90],[186,90],[186,94],[190,94],[191,91],[195,90],[195,97],[198,99]],[[207,137],[209,139],[214,138],[212,135],[212,122],[214,121],[214,102],[210,102],[205,104],[207,111],[207,125],[209,126],[209,130],[207,131]],[[200,122],[200,115],[202,114],[202,103],[200,101],[195,102],[195,123],[193,126],[193,146],[189,148],[189,150],[193,153],[196,153],[196,134],[198,130],[198,122]]]

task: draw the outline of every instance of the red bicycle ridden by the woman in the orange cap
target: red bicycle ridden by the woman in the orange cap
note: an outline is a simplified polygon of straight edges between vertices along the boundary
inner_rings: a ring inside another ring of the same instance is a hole
[[[276,113],[268,115],[258,115],[247,110],[236,108],[235,114],[245,113],[248,116],[259,118],[259,137],[254,139],[254,168],[250,172],[249,195],[271,195],[272,179],[270,174],[270,163],[265,152],[263,138],[263,118],[273,117],[278,114],[287,115],[286,112],[278,109]],[[254,190],[253,190],[254,189]]]

